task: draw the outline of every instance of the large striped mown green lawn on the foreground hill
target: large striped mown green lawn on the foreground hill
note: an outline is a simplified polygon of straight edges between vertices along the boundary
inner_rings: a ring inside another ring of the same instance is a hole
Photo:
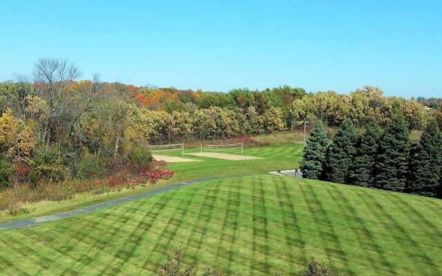
[[[441,275],[441,211],[439,199],[322,181],[218,179],[2,230],[0,273],[153,275],[182,246],[229,275],[295,275],[311,256],[345,275]]]

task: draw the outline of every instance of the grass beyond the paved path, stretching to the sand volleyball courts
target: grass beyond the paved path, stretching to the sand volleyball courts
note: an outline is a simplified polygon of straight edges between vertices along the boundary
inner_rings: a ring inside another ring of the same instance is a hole
[[[186,152],[198,152],[198,148],[186,148]],[[240,154],[240,150],[231,150],[226,153]],[[162,152],[163,155],[181,156],[181,152]],[[288,170],[298,168],[298,161],[302,155],[301,144],[285,146],[259,146],[244,148],[244,155],[262,157],[262,159],[229,161],[204,157],[186,155],[186,158],[199,159],[198,162],[171,163],[169,169],[175,172],[172,179],[159,181],[154,186],[137,186],[120,188],[106,193],[83,193],[77,194],[73,199],[64,201],[40,201],[23,205],[23,212],[19,215],[10,215],[8,211],[0,212],[0,221],[10,221],[24,217],[35,217],[37,215],[49,215],[61,211],[81,208],[90,204],[97,204],[109,199],[124,197],[145,190],[151,190],[166,186],[177,181],[195,179],[210,176],[226,175],[256,175],[269,172],[270,170]]]

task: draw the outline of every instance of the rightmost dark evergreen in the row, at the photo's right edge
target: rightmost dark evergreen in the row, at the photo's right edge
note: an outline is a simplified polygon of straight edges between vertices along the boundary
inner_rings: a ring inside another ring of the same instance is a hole
[[[442,170],[442,135],[436,121],[422,133],[421,141],[410,155],[410,193],[435,197]]]

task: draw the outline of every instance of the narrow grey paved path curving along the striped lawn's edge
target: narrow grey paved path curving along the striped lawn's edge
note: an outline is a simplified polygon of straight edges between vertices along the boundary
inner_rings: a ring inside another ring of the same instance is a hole
[[[53,221],[53,220],[58,220],[58,219],[64,219],[66,217],[73,217],[76,215],[82,215],[82,214],[86,214],[86,213],[90,213],[93,212],[95,210],[100,210],[103,208],[108,208],[111,206],[117,206],[120,204],[124,204],[128,201],[133,201],[135,199],[140,199],[142,197],[149,197],[151,195],[157,195],[159,193],[164,193],[168,190],[173,190],[175,188],[181,188],[183,186],[189,185],[189,184],[194,184],[194,183],[198,183],[198,182],[202,182],[202,181],[208,181],[208,180],[213,180],[213,179],[224,179],[224,178],[231,178],[231,177],[241,177],[241,176],[246,176],[246,175],[233,175],[233,176],[229,176],[229,177],[204,177],[204,178],[198,178],[198,179],[191,179],[191,180],[187,180],[187,181],[182,181],[179,183],[175,183],[175,184],[171,184],[169,186],[164,186],[161,188],[157,188],[155,190],[148,190],[144,193],[139,193],[139,194],[135,194],[135,195],[129,195],[128,197],[122,197],[119,199],[113,199],[110,201],[106,201],[106,202],[102,202],[99,204],[94,204],[91,206],[86,206],[84,208],[79,208],[76,210],[70,210],[64,213],[58,213],[58,214],[54,214],[54,215],[46,215],[44,217],[33,217],[33,218],[29,218],[29,219],[20,219],[17,221],[9,221],[9,222],[4,222],[4,223],[0,223],[0,230],[3,229],[10,229],[10,228],[18,228],[18,227],[23,227],[23,226],[32,226],[35,224],[41,224],[43,222],[46,221]]]

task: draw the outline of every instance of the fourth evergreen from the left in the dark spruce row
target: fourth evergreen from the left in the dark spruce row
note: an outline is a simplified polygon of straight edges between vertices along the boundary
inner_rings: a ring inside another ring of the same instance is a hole
[[[388,124],[379,141],[375,165],[376,187],[403,192],[407,183],[410,131],[407,121],[399,115]]]

